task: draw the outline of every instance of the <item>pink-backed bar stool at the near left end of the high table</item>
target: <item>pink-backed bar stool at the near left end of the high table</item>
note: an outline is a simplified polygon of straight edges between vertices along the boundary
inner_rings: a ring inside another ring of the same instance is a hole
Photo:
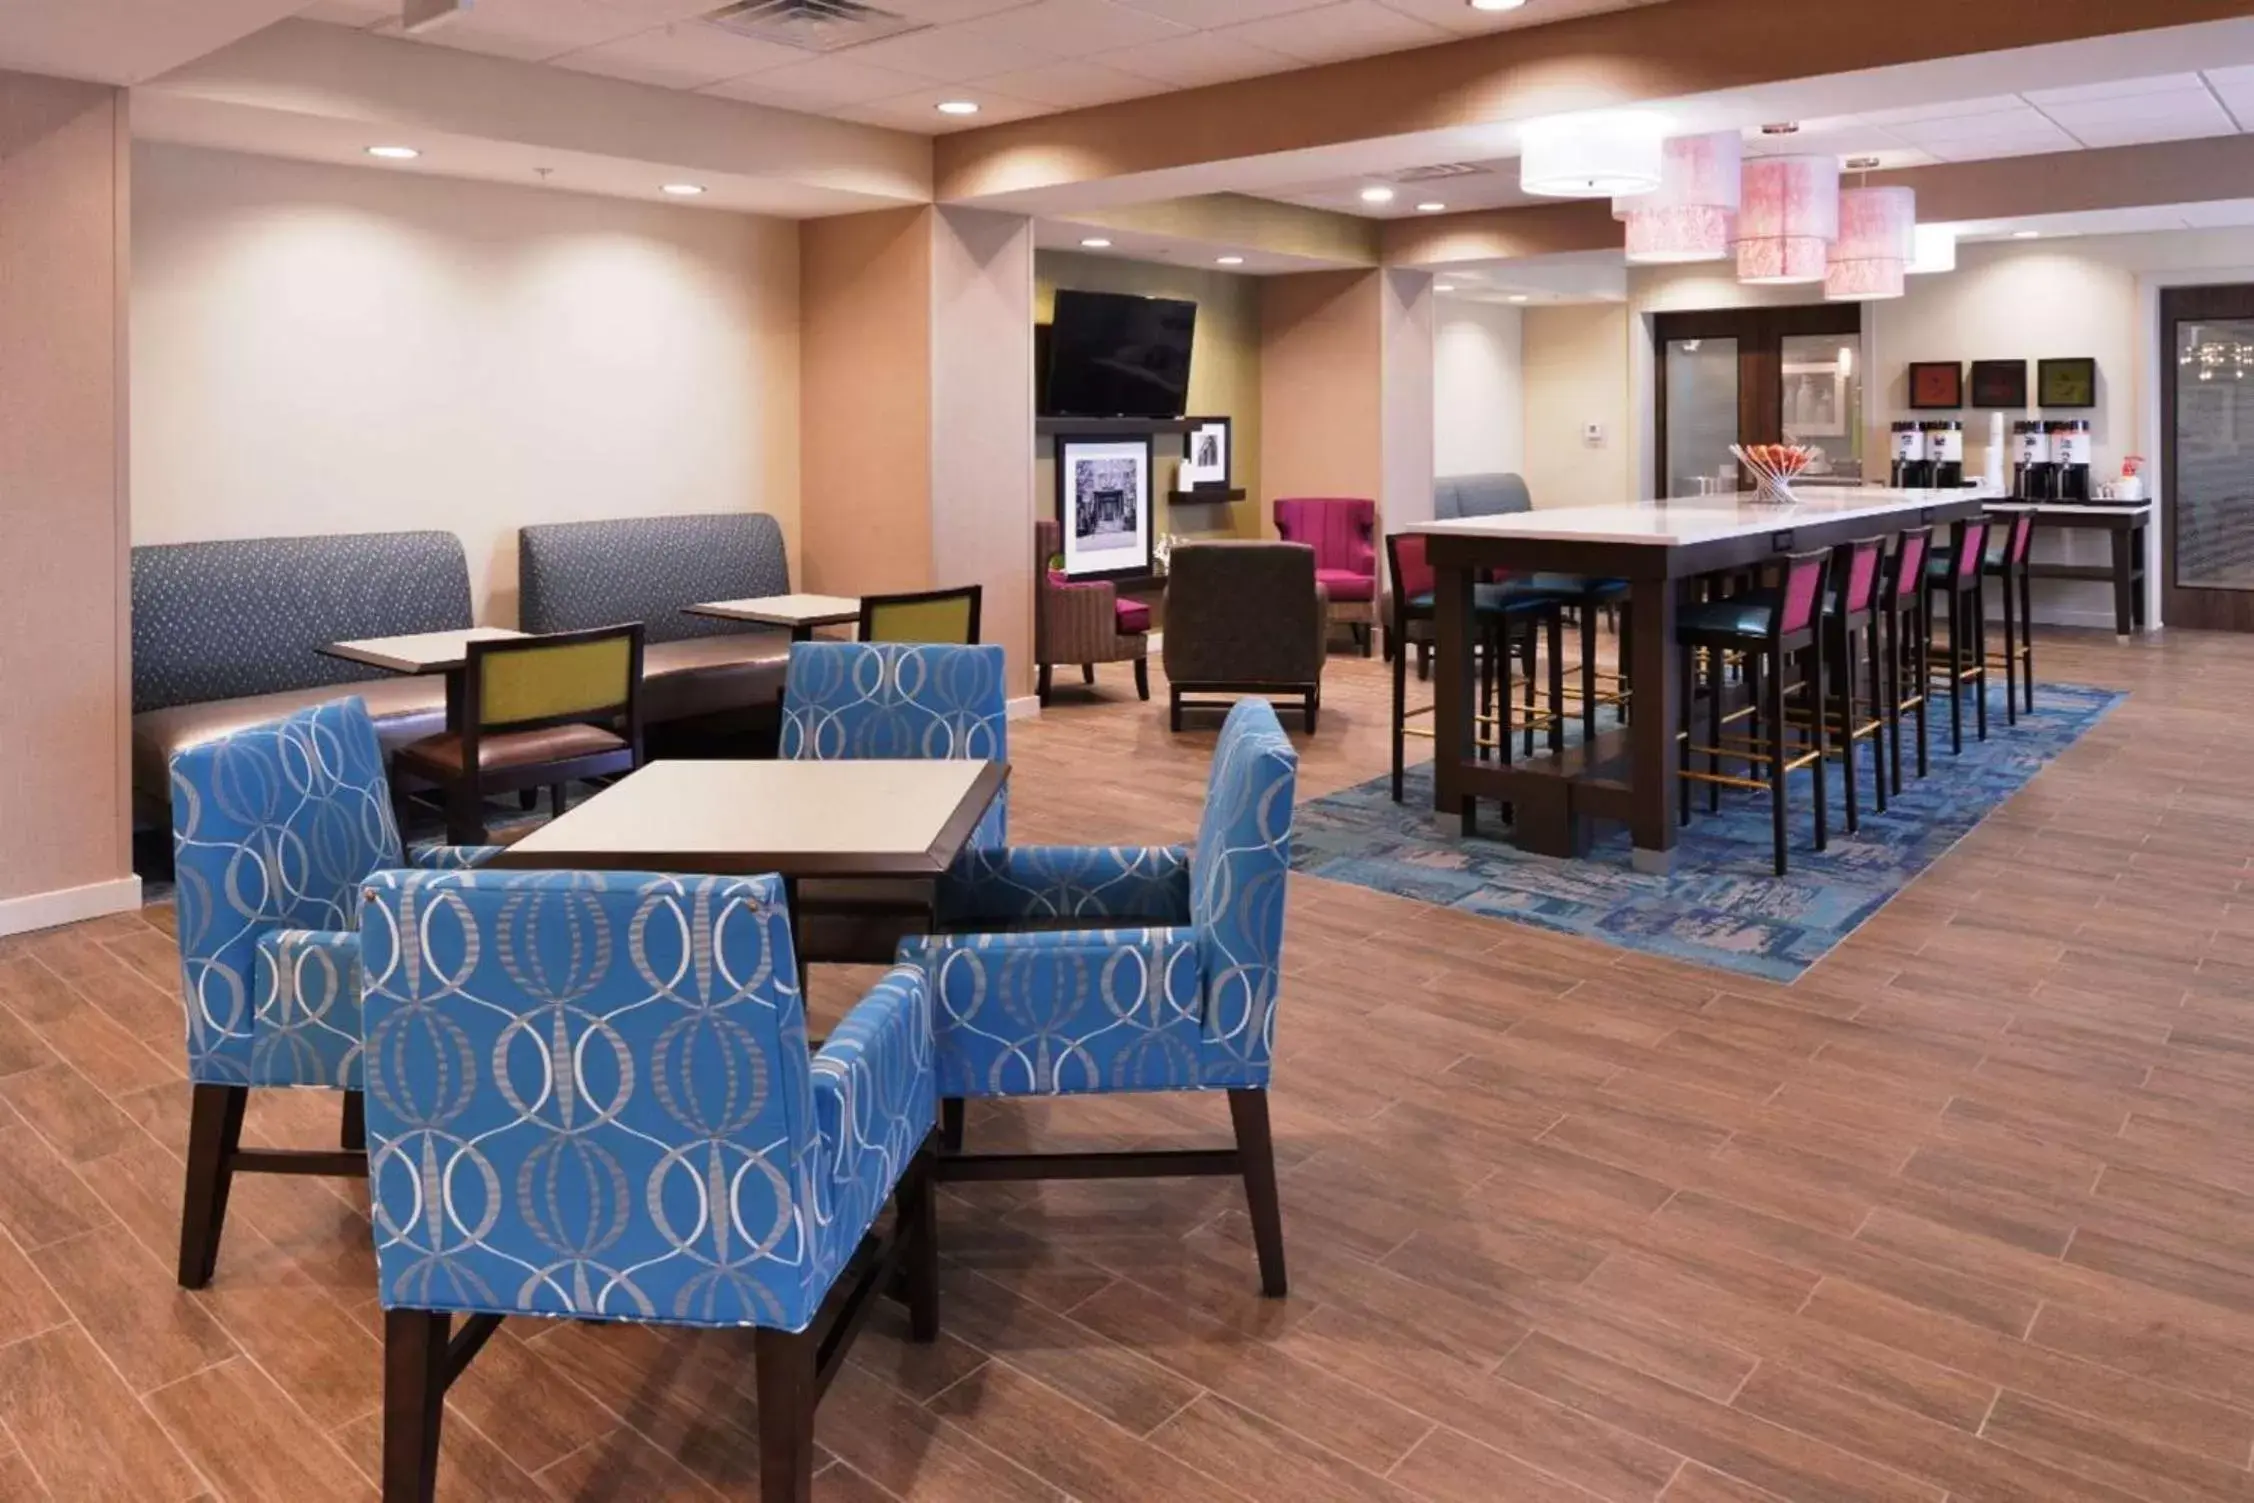
[[[1393,532],[1386,536],[1386,563],[1393,570],[1393,620],[1386,624],[1395,642],[1409,642],[1411,624],[1438,620],[1436,572],[1425,554],[1425,534]],[[1501,753],[1510,762],[1512,717],[1510,717],[1510,658],[1519,658],[1524,676],[1524,730],[1526,755],[1533,755],[1537,728],[1548,730],[1551,750],[1564,750],[1564,658],[1560,599],[1555,593],[1530,584],[1474,584],[1472,586],[1472,635],[1479,651],[1479,717],[1472,739],[1481,762],[1490,753]],[[1537,703],[1535,651],[1539,635],[1548,633],[1548,708]],[[1445,690],[1447,685],[1443,685]],[[1501,705],[1497,705],[1501,701]],[[1406,739],[1431,737],[1431,730],[1409,721],[1431,714],[1431,705],[1409,708],[1409,653],[1393,653],[1393,802],[1402,802],[1402,775],[1406,771]],[[1490,735],[1492,732],[1492,735]]]

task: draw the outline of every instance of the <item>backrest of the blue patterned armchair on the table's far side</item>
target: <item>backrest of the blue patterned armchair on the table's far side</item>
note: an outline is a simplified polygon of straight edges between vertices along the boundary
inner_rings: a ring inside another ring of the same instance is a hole
[[[802,759],[1010,759],[1001,647],[796,642],[782,685],[782,755]],[[971,836],[1008,841],[1003,789]]]

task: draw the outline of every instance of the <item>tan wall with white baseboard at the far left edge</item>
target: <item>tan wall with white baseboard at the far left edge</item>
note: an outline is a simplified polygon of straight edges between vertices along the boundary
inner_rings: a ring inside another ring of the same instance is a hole
[[[0,933],[131,908],[124,95],[0,72]]]

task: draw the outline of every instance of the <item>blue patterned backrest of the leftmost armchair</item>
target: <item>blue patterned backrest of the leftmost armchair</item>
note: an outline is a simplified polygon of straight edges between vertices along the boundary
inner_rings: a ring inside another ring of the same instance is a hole
[[[338,1084],[268,1068],[289,1039],[255,1028],[257,951],[275,931],[354,928],[361,879],[401,861],[367,705],[338,699],[176,755],[171,845],[189,1075]]]

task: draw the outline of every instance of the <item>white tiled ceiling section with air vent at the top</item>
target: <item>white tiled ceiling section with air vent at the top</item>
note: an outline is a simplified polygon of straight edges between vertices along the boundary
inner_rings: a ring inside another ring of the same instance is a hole
[[[922,27],[829,54],[699,20],[721,2],[473,0],[419,41],[938,135],[1663,0],[872,0]],[[399,0],[300,14],[399,32]]]

